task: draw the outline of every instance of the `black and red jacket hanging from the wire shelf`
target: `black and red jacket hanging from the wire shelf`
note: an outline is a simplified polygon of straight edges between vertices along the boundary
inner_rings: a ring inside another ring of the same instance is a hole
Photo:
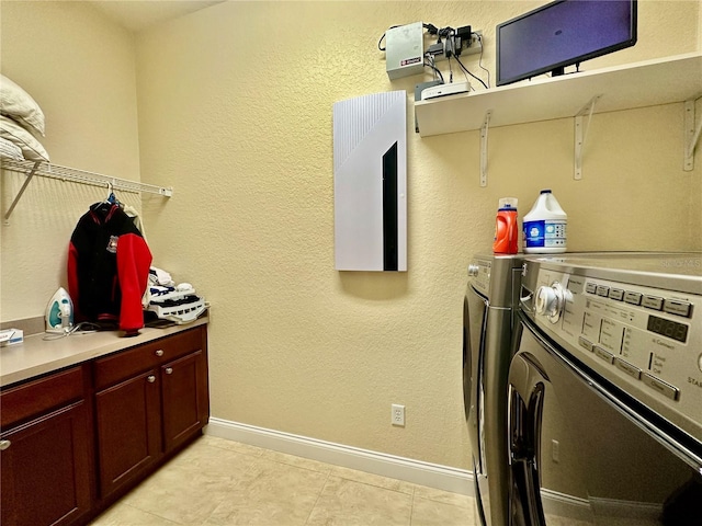
[[[151,252],[122,208],[95,203],[78,220],[68,250],[68,291],[77,321],[118,322],[135,333],[144,327],[141,296]]]

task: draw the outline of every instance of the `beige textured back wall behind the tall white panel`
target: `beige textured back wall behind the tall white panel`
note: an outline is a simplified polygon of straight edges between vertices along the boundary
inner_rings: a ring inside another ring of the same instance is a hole
[[[388,81],[385,28],[471,23],[492,68],[495,24],[540,3],[227,2],[139,35],[141,171],[176,187],[145,211],[157,264],[213,305],[215,416],[467,467],[465,266],[491,248],[498,197],[523,215],[552,187],[573,250],[700,248],[702,167],[680,170],[675,104],[597,115],[581,182],[573,119],[491,129],[487,188],[477,132],[410,129],[409,272],[333,270],[332,103],[418,81]],[[698,9],[643,1],[639,44],[588,69],[694,50]]]

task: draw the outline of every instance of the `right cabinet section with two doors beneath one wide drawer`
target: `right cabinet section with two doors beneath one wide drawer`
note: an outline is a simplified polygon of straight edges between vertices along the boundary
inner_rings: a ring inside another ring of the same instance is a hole
[[[97,359],[94,380],[99,495],[106,499],[207,423],[206,329]]]

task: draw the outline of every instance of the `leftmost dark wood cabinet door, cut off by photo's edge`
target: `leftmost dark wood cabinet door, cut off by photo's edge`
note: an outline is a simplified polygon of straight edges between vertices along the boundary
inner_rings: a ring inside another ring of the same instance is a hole
[[[90,510],[87,410],[80,401],[2,434],[3,526],[69,524]]]

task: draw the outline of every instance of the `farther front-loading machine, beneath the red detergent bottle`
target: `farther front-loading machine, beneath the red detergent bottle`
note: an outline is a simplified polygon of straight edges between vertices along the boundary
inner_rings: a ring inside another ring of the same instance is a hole
[[[476,256],[463,301],[463,397],[477,516],[508,516],[507,375],[512,353],[521,255]]]

